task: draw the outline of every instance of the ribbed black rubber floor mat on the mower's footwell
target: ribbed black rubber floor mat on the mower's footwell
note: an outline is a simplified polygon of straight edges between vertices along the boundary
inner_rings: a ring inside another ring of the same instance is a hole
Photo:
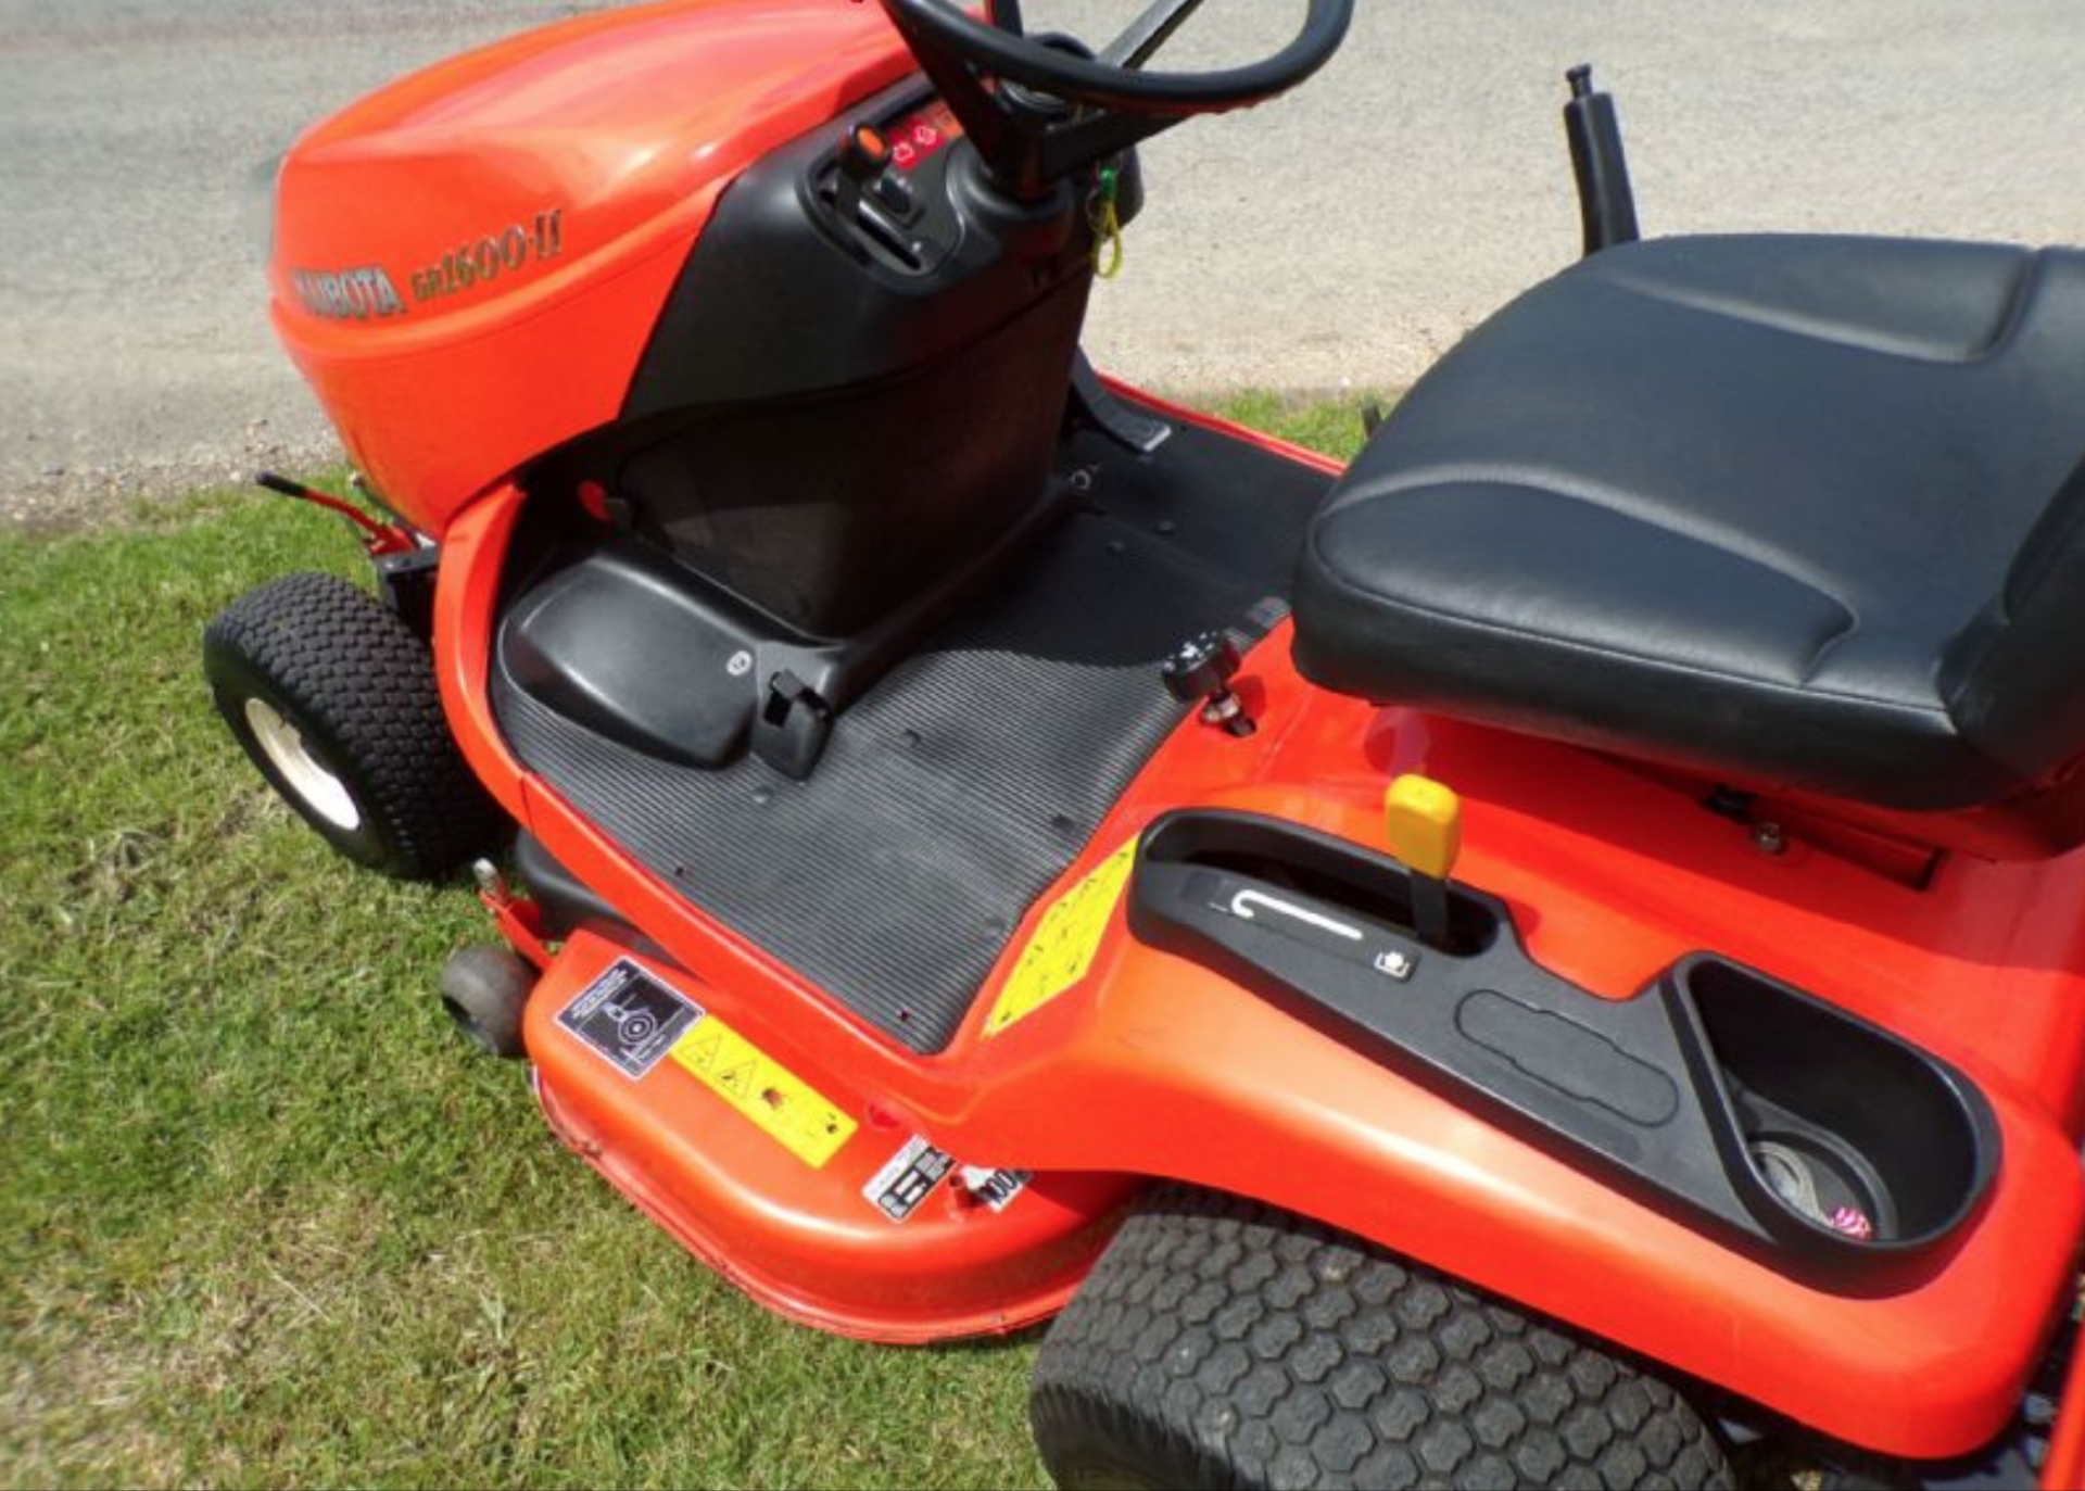
[[[903,1045],[947,1047],[1030,903],[1182,719],[1159,661],[1286,609],[1328,478],[1180,430],[1136,459],[1097,436],[1090,511],[901,663],[809,782],[703,772],[605,740],[494,669],[509,742],[701,909]]]

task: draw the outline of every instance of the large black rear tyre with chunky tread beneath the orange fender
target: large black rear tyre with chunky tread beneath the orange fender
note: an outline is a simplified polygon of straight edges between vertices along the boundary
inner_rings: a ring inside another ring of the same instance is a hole
[[[1668,1385],[1253,1201],[1166,1187],[1051,1328],[1059,1487],[1728,1487]]]

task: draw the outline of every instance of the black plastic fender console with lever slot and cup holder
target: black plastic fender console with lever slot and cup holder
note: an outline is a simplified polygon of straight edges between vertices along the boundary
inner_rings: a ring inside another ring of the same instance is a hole
[[[1989,1191],[1997,1122],[1947,1061],[1708,953],[1603,999],[1537,966],[1503,901],[1451,897],[1447,943],[1428,947],[1395,859],[1174,813],[1145,834],[1130,928],[1841,1289],[1945,1247]]]

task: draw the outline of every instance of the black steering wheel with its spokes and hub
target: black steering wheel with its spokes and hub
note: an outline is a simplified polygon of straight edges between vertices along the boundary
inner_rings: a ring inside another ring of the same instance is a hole
[[[1353,0],[1309,0],[1295,40],[1266,60],[1207,73],[1143,71],[1201,4],[1155,0],[1095,54],[1068,35],[1024,33],[1020,0],[990,0],[988,19],[953,0],[882,0],[992,177],[1020,198],[1040,196],[1182,119],[1289,92],[1332,60],[1353,21]]]

